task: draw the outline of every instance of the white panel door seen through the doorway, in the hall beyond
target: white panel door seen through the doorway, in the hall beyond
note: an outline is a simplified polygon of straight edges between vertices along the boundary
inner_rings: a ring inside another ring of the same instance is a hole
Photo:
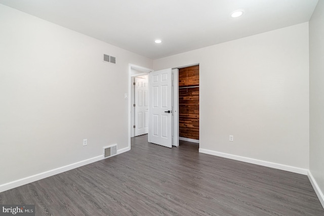
[[[148,132],[148,76],[135,77],[135,136]]]

